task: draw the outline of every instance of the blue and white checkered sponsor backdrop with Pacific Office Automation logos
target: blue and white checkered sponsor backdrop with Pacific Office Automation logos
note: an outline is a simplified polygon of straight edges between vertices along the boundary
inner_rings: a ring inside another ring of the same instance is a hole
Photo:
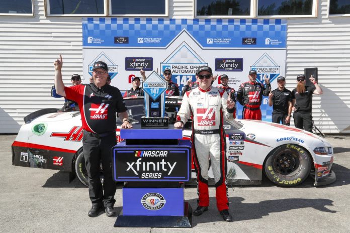
[[[85,18],[82,29],[84,83],[99,60],[108,64],[111,85],[121,91],[131,88],[141,67],[146,76],[170,68],[180,90],[188,79],[195,81],[201,65],[218,74],[214,86],[227,74],[236,91],[248,81],[250,69],[257,71],[261,83],[270,77],[273,89],[276,78],[285,75],[285,20]],[[240,119],[242,106],[237,106]],[[262,120],[271,121],[267,97],[261,111]]]

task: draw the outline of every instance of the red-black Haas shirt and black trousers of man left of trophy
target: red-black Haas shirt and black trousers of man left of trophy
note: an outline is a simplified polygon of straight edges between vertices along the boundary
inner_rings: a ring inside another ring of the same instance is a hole
[[[116,111],[127,110],[120,90],[94,83],[64,88],[66,97],[79,105],[83,128],[82,148],[88,172],[89,196],[93,204],[113,206],[116,183],[112,178],[112,147],[116,141]],[[100,180],[102,163],[104,184]]]

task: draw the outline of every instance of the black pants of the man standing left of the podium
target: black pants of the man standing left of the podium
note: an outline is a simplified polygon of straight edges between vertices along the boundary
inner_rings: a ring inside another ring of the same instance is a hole
[[[112,178],[112,147],[117,144],[115,134],[103,138],[90,136],[84,131],[82,149],[88,172],[89,196],[93,204],[113,206],[116,200],[116,183]],[[103,169],[103,185],[100,180],[100,164]]]

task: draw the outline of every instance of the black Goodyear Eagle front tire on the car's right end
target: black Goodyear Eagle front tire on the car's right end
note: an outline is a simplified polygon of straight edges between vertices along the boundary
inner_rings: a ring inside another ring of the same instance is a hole
[[[310,174],[311,157],[299,145],[279,146],[268,155],[264,170],[266,177],[282,187],[301,184]]]

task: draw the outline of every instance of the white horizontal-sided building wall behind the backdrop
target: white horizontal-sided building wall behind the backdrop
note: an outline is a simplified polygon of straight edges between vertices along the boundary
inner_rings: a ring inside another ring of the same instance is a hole
[[[193,5],[169,0],[169,18],[192,19]],[[350,17],[329,18],[328,0],[318,5],[317,18],[287,20],[287,88],[304,68],[318,67],[324,94],[314,96],[315,124],[323,133],[350,133]],[[82,75],[81,18],[46,17],[44,0],[34,0],[34,14],[0,16],[0,134],[17,133],[35,110],[62,106],[50,96],[59,54],[66,85],[71,74]]]

